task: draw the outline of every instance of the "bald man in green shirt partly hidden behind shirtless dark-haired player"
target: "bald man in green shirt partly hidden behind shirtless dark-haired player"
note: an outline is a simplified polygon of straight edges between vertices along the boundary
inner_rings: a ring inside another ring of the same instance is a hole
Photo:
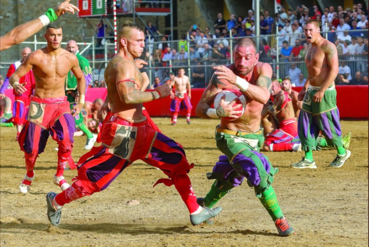
[[[69,40],[67,42],[66,49],[69,52],[77,56],[78,61],[79,61],[79,67],[81,68],[84,74],[84,78],[86,81],[86,91],[87,91],[88,85],[92,80],[91,67],[89,66],[88,60],[87,58],[79,54],[78,45],[76,41]],[[73,104],[75,104],[76,102],[78,91],[77,91],[77,80],[76,80],[76,77],[73,75],[72,71],[69,71],[65,79],[65,95],[68,97],[68,101],[70,103],[70,109],[73,109]],[[96,142],[97,135],[92,134],[88,130],[86,125],[84,124],[82,111],[83,110],[81,110],[81,112],[74,117],[74,121],[76,123],[76,128],[80,129],[87,136],[87,141],[86,141],[86,145],[84,146],[84,149],[89,150],[94,147],[94,143]]]

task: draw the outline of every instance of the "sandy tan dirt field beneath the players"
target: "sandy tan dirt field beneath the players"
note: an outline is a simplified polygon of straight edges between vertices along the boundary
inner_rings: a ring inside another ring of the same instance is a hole
[[[198,196],[204,196],[212,180],[211,171],[220,152],[215,147],[217,120],[184,118],[169,126],[169,118],[153,118],[164,134],[183,145]],[[223,212],[215,225],[194,227],[174,187],[159,184],[165,175],[135,162],[102,193],[66,205],[59,227],[46,216],[45,195],[59,192],[53,184],[56,171],[56,143],[49,139],[35,166],[31,191],[20,194],[24,158],[15,141],[15,128],[1,128],[0,151],[0,245],[1,246],[367,246],[368,245],[368,122],[341,121],[343,132],[352,131],[351,158],[341,168],[329,163],[336,151],[314,152],[317,169],[290,168],[302,152],[269,153],[280,172],[273,187],[285,216],[296,235],[278,236],[267,212],[245,182],[224,197]],[[75,138],[77,160],[83,153],[85,137]],[[64,173],[71,181],[76,170]],[[126,202],[137,200],[140,205]]]

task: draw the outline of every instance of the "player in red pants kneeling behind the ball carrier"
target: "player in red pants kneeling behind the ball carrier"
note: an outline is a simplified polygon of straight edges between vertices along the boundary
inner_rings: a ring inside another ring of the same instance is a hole
[[[285,79],[284,79],[285,80]],[[297,132],[297,120],[292,101],[287,92],[283,91],[278,80],[272,81],[274,103],[265,105],[261,111],[261,125],[264,127],[264,151],[301,151],[301,143]],[[276,122],[270,122],[268,116],[275,115]],[[265,133],[265,126],[270,130]]]

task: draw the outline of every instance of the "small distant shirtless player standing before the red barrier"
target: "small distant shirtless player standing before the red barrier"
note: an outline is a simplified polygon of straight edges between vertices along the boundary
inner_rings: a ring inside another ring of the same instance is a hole
[[[170,103],[170,111],[172,114],[172,125],[177,124],[177,117],[179,111],[186,110],[186,119],[187,123],[191,124],[191,84],[190,78],[184,75],[184,69],[178,69],[178,75],[172,78],[173,80],[170,82],[170,86],[175,86],[175,93],[170,93],[170,98],[172,102]]]

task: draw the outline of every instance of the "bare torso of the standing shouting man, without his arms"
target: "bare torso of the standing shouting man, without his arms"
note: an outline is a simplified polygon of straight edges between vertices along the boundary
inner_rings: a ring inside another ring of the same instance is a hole
[[[305,55],[305,64],[308,72],[308,80],[311,86],[319,87],[326,82],[331,70],[328,66],[326,53],[322,46],[326,45],[328,40],[322,39],[316,45],[309,45]],[[333,83],[332,81],[331,83]]]

